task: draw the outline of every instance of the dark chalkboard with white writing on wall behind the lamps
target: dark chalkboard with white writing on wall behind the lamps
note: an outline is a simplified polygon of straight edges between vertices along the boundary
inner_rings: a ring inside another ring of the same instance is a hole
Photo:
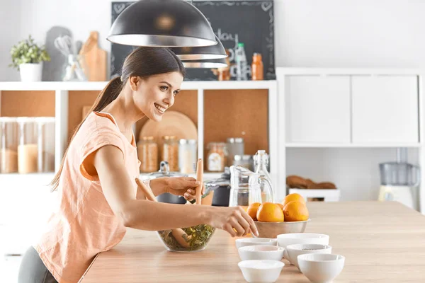
[[[131,2],[112,2],[112,23]],[[244,43],[249,66],[254,52],[261,53],[264,79],[276,79],[274,57],[273,0],[268,1],[193,1],[210,22],[215,35],[230,52],[231,79],[236,77],[234,50],[238,42]],[[112,24],[111,23],[111,24]],[[119,76],[125,57],[135,47],[111,45],[111,77]],[[186,69],[186,81],[215,81],[217,76],[210,69]],[[249,78],[251,67],[249,67]]]

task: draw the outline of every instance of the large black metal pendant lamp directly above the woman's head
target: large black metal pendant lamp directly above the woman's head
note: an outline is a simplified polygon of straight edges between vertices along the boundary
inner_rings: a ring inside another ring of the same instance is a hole
[[[116,18],[107,40],[151,47],[217,44],[207,18],[183,0],[140,0],[131,4]]]

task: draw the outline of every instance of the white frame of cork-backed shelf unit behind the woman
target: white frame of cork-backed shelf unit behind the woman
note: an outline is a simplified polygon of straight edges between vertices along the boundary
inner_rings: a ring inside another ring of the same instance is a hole
[[[1,91],[54,91],[55,92],[55,168],[59,168],[62,161],[62,156],[67,148],[67,141],[69,137],[69,117],[75,113],[69,113],[69,100],[70,96],[75,95],[77,92],[86,93],[89,91],[97,94],[107,84],[107,81],[99,82],[0,82],[0,106],[1,106]],[[197,105],[197,124],[198,124],[198,157],[204,158],[205,154],[205,108],[208,105],[208,98],[212,97],[214,91],[230,91],[237,95],[244,95],[243,91],[266,91],[266,107],[267,107],[267,129],[268,134],[268,154],[271,157],[271,175],[276,178],[278,173],[278,97],[277,97],[277,82],[276,81],[183,81],[181,86],[183,91],[196,91],[196,105]],[[89,93],[93,94],[93,93]],[[255,93],[254,93],[255,95]],[[176,101],[179,98],[176,99]],[[177,104],[177,103],[176,103]],[[243,107],[243,106],[242,106]],[[182,108],[182,106],[181,106]],[[171,109],[172,110],[172,109]],[[221,113],[220,113],[221,114]],[[0,107],[1,116],[1,107]],[[137,138],[137,132],[135,136]],[[274,157],[276,156],[276,157]],[[33,175],[31,178],[36,178]],[[194,176],[194,174],[191,174]],[[220,173],[205,173],[205,180],[218,178]],[[146,174],[142,174],[145,177]],[[17,178],[25,180],[26,175],[9,174],[6,176],[0,175],[0,183],[6,184],[13,183]],[[40,177],[44,180],[44,177]]]

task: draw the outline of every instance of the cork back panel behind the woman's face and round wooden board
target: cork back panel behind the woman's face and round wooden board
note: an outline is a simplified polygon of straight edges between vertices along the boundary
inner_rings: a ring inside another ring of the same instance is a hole
[[[178,111],[188,116],[198,127],[198,91],[180,91],[174,100],[170,110]],[[136,139],[139,137],[140,129],[147,122],[147,117],[136,123]]]

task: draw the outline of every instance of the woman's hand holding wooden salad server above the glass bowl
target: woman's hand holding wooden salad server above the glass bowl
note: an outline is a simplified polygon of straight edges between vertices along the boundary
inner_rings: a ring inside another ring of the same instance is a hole
[[[188,200],[194,200],[196,197],[196,187],[200,185],[200,183],[191,177],[169,177],[165,180],[164,192],[169,192],[173,195],[183,195],[183,197]],[[205,187],[203,187],[202,194],[205,191]]]

